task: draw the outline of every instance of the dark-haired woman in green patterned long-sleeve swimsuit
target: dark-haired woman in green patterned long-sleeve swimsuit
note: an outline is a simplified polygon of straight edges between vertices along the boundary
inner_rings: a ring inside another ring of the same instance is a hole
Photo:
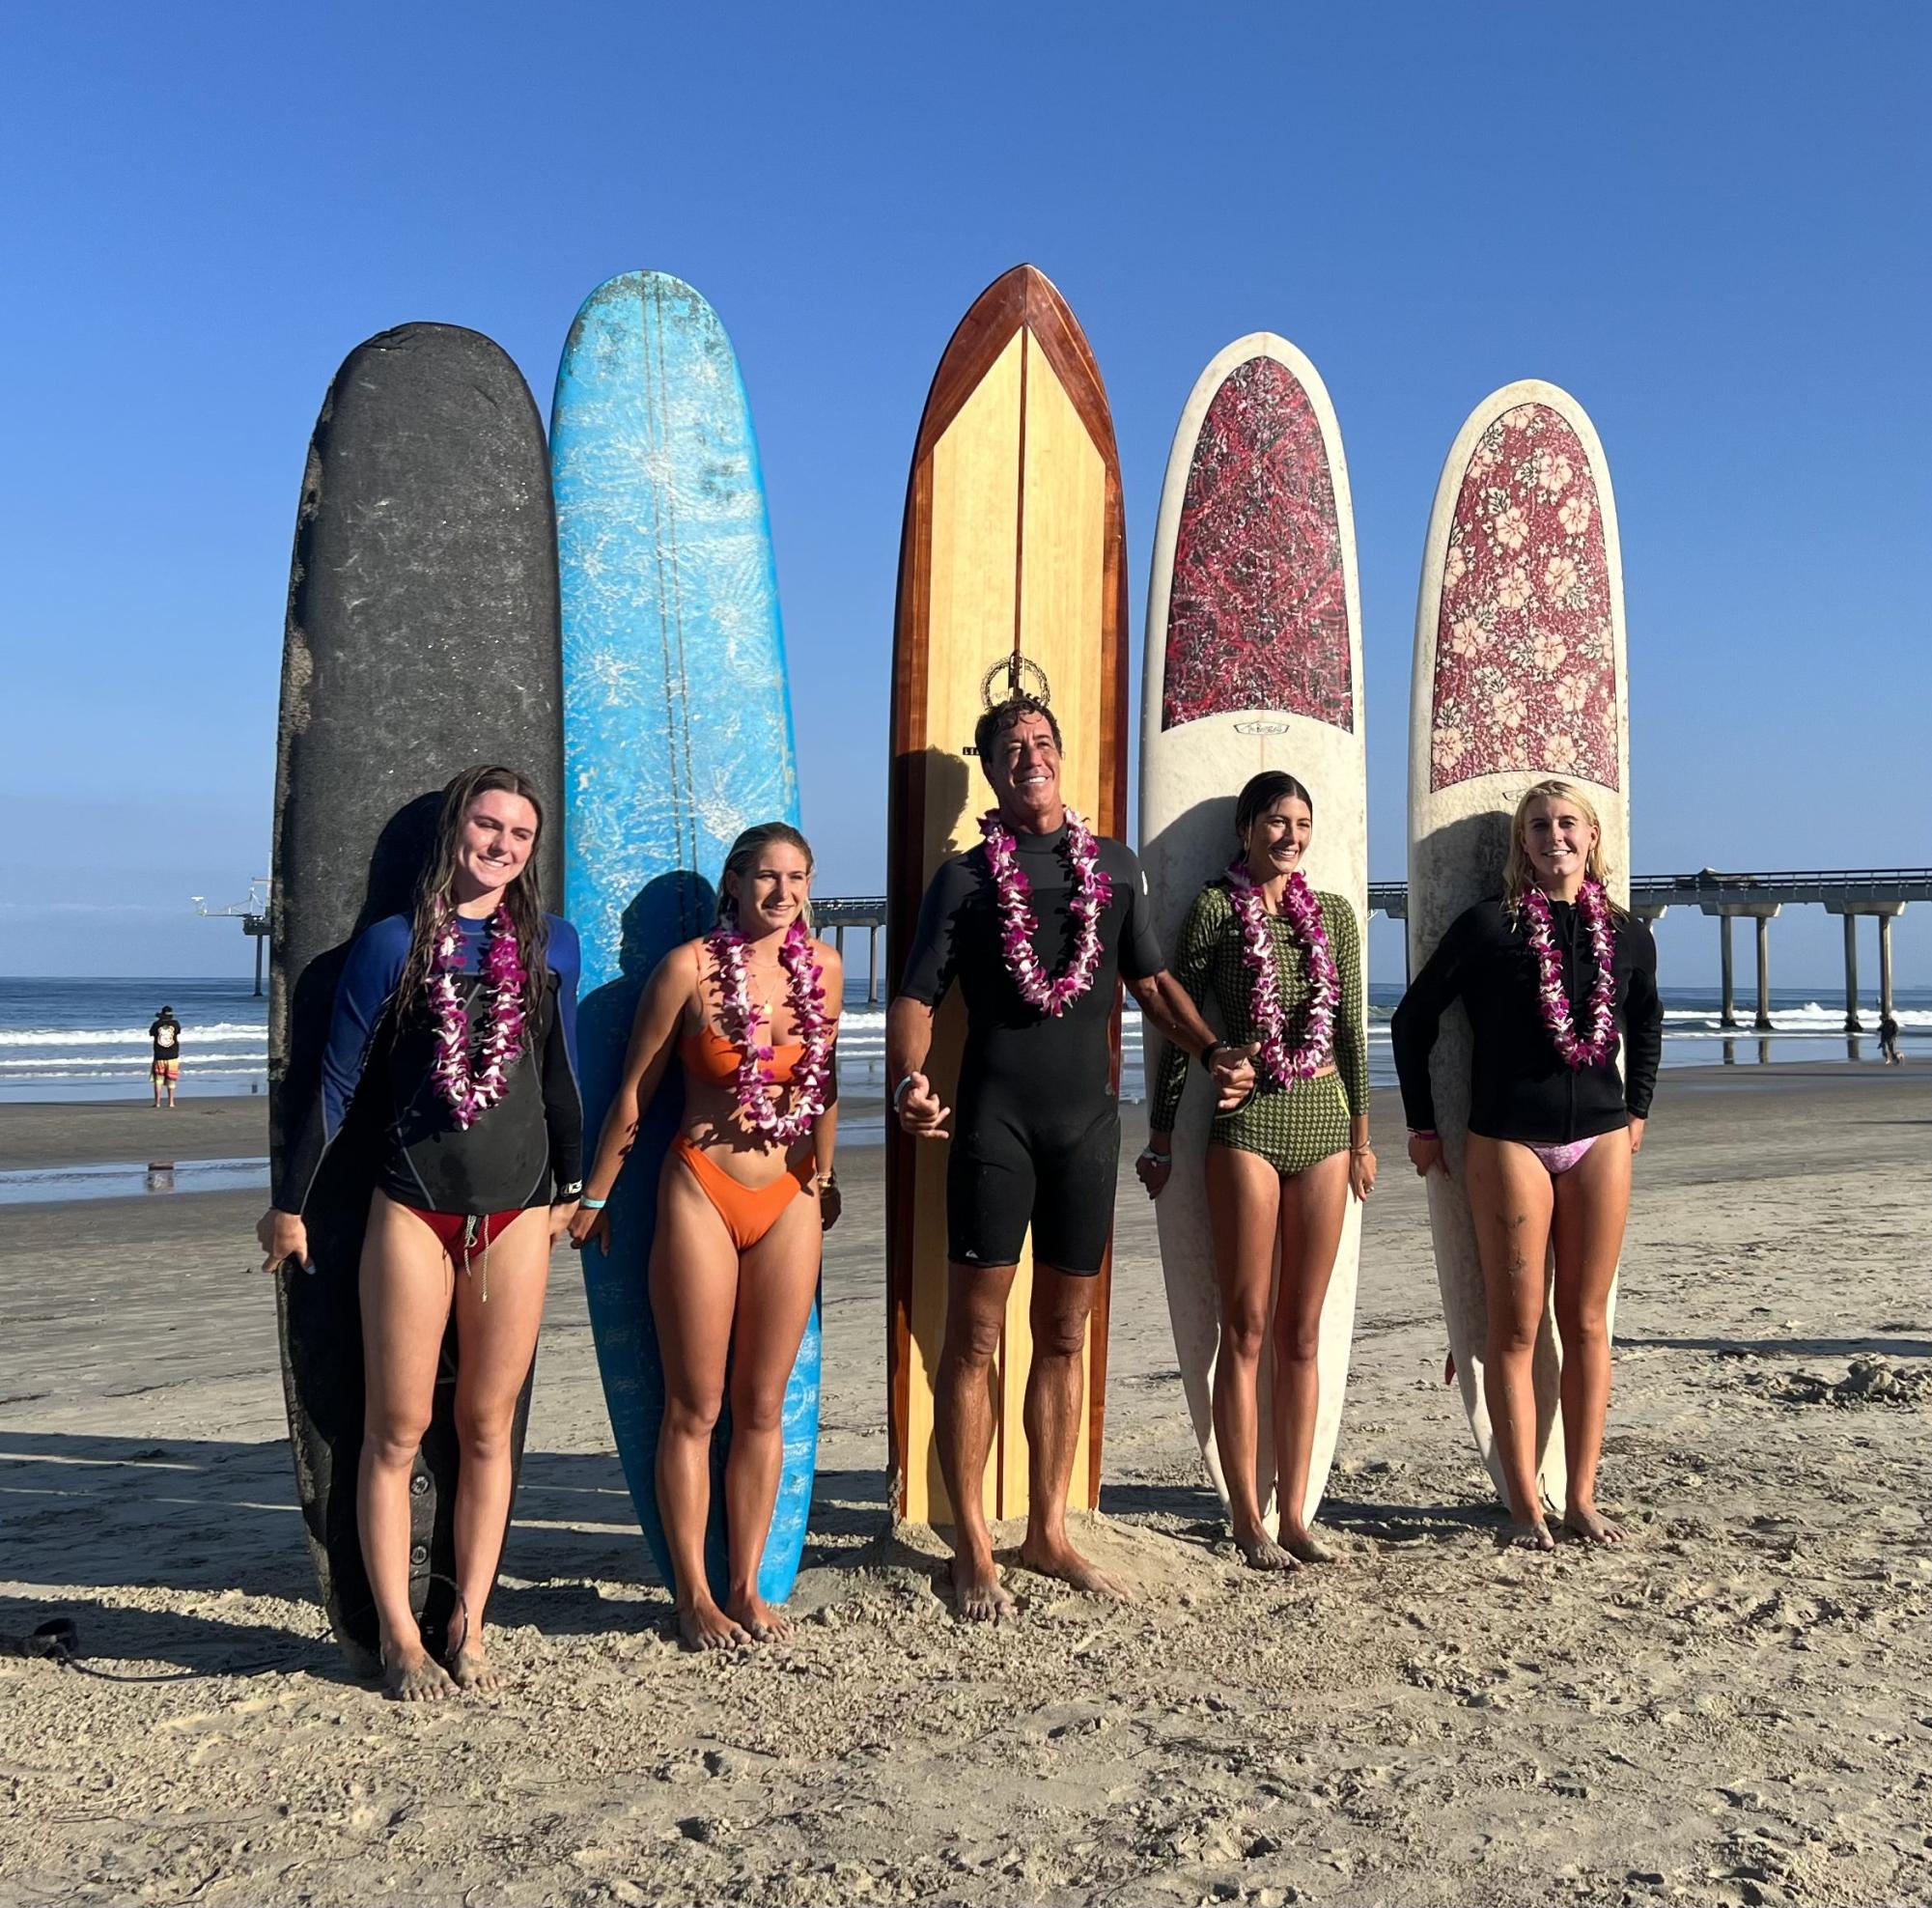
[[[1314,801],[1293,774],[1254,776],[1235,805],[1235,834],[1246,875],[1260,896],[1275,948],[1275,989],[1285,1010],[1285,1045],[1308,1037],[1314,985],[1300,937],[1283,908],[1314,836]],[[1310,1080],[1275,1080],[1256,1058],[1258,1085],[1208,1132],[1208,1211],[1221,1288],[1221,1350],[1213,1373],[1213,1429],[1227,1479],[1235,1543],[1262,1570],[1331,1562],[1302,1516],[1316,1435],[1321,1302],[1341,1246],[1350,1193],[1366,1199],[1376,1184],[1368,1143],[1368,1052],[1362,1039],[1362,931],[1339,894],[1318,894],[1333,954],[1339,1000],[1329,1052],[1316,1052]],[[1206,1006],[1221,1008],[1229,1043],[1260,1051],[1254,979],[1242,964],[1242,925],[1235,883],[1208,883],[1188,910],[1173,973]],[[1175,1114],[1186,1087],[1188,1056],[1169,1047],[1150,1112],[1148,1149],[1136,1170],[1153,1197],[1173,1170]],[[1262,1524],[1256,1491],[1256,1377],[1267,1338],[1267,1296],[1275,1242],[1281,1292],[1275,1302],[1275,1452],[1281,1489],[1281,1543]]]

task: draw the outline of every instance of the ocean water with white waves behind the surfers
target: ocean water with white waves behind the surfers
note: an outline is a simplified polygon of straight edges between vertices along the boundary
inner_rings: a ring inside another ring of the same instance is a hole
[[[1389,1014],[1399,998],[1399,987],[1370,987],[1368,1056],[1378,1085],[1395,1083]],[[1899,989],[1895,1000],[1905,1052],[1932,1054],[1932,987]],[[257,1000],[245,979],[0,977],[0,1101],[145,1097],[147,1027],[164,1002],[182,1022],[184,1095],[267,1091],[269,1002]],[[1747,1022],[1752,1002],[1739,1002]],[[1774,1033],[1758,1035],[1747,1025],[1727,1035],[1718,1025],[1714,989],[1665,987],[1663,1064],[1876,1062],[1878,1008],[1870,996],[1862,1014],[1868,1031],[1853,1039],[1843,1031],[1843,991],[1776,989]],[[1121,1091],[1124,1099],[1144,1099],[1138,1014],[1126,1014],[1122,1033]],[[885,1008],[866,1004],[864,981],[848,989],[838,1052],[848,1093],[883,1091]]]

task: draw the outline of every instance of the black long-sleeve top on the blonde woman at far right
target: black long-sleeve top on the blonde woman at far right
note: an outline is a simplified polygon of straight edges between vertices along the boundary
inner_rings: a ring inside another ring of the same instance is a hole
[[[1563,960],[1563,989],[1578,1029],[1588,1024],[1596,985],[1590,935],[1569,902],[1551,902],[1551,933]],[[1478,902],[1449,925],[1422,971],[1408,983],[1389,1027],[1403,1112],[1416,1132],[1435,1128],[1430,1052],[1451,1000],[1468,1012],[1474,1035],[1468,1130],[1490,1139],[1563,1145],[1615,1132],[1650,1116],[1663,1056],[1663,1004],[1658,1000],[1658,944],[1634,915],[1613,915],[1611,960],[1619,1041],[1594,1066],[1571,1068],[1544,1024],[1542,977],[1526,925],[1501,900]],[[1617,1076],[1617,1045],[1625,1054]]]

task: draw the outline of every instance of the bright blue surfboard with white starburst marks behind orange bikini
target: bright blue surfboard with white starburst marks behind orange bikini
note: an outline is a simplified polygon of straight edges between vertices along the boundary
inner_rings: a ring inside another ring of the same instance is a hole
[[[583,301],[551,407],[564,618],[564,912],[583,942],[578,1008],[585,1136],[616,1091],[638,996],[705,933],[732,838],[798,825],[792,707],[752,407],[717,313],[665,272],[624,272]],[[678,1130],[672,1078],[611,1197],[611,1251],[583,1284],[618,1458],[657,1574],[665,1369],[645,1273],[657,1176]],[[724,1452],[711,1448],[705,1570],[726,1587]],[[792,1593],[819,1443],[819,1307],[784,1392],[784,1466],[757,1578]]]

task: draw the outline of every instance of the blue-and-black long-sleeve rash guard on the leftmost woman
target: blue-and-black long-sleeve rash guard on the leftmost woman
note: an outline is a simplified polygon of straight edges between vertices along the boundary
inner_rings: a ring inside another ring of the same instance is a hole
[[[483,952],[489,923],[458,915],[464,971],[456,981],[471,1052],[489,1012]],[[524,1051],[500,1101],[460,1128],[431,1080],[435,1031],[421,1010],[390,1012],[410,954],[408,915],[388,915],[350,948],[336,985],[321,1091],[296,1124],[276,1207],[299,1213],[323,1153],[342,1132],[350,1101],[375,1095],[377,1186],[425,1213],[510,1213],[583,1190],[583,1097],[578,1089],[578,931],[549,915],[549,985],[524,1022]],[[375,1062],[371,1070],[371,1062]],[[365,1078],[367,1072],[367,1078]],[[359,1116],[359,1114],[357,1114]]]

